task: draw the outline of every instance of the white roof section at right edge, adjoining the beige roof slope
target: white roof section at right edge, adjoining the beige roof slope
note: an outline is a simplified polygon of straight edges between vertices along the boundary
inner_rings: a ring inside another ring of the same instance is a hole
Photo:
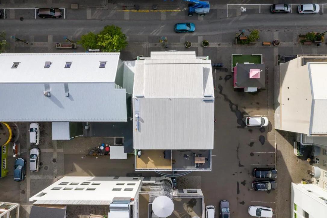
[[[327,134],[327,64],[308,63],[312,106],[310,134]]]

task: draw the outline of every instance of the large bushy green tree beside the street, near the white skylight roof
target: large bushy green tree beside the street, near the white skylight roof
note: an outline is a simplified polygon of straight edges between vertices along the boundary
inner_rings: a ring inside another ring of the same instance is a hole
[[[120,52],[128,44],[121,28],[114,25],[105,26],[98,34],[90,32],[82,35],[77,43],[81,44],[85,50],[101,49],[102,52]]]

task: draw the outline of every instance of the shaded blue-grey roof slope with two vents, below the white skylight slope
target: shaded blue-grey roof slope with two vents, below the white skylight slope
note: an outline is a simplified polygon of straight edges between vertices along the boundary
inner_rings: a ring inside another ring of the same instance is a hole
[[[126,91],[114,83],[50,83],[45,97],[44,83],[0,84],[1,121],[97,121],[126,122]],[[66,85],[67,86],[67,85]],[[67,87],[66,87],[67,88]]]

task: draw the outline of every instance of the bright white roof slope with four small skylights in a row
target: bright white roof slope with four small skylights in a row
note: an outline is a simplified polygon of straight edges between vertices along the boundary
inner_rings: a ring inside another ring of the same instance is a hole
[[[2,53],[0,83],[114,82],[120,53]],[[45,62],[51,62],[44,68]],[[100,61],[105,61],[100,68]],[[17,68],[11,68],[19,62]],[[65,68],[66,62],[72,62]]]

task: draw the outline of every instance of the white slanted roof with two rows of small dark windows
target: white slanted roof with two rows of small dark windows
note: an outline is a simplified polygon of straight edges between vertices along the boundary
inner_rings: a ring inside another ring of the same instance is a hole
[[[138,189],[142,183],[143,177],[119,177],[114,179],[113,176],[64,176],[52,185],[43,189],[39,193],[29,198],[29,201],[35,201],[42,204],[85,204],[85,205],[109,205],[114,197],[135,198],[138,194]],[[61,184],[60,183],[68,183]],[[71,185],[71,183],[78,183]],[[82,185],[82,182],[85,182]],[[99,184],[93,184],[99,183]],[[122,183],[122,185],[117,185]],[[133,183],[135,185],[128,185]],[[52,190],[60,188],[60,190]],[[63,190],[64,188],[72,188],[71,190]],[[83,188],[83,190],[75,190]],[[95,190],[87,190],[87,189]],[[120,188],[119,191],[114,191],[113,188]],[[132,188],[132,191],[125,191],[125,188]],[[44,195],[41,193],[45,193]],[[41,196],[43,195],[43,196]]]

